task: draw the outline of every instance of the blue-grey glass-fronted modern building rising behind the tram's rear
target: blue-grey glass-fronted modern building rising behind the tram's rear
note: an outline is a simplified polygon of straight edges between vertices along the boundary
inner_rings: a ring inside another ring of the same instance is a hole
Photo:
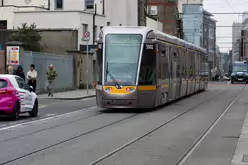
[[[184,39],[207,50],[211,76],[216,65],[216,20],[203,9],[202,0],[179,0],[178,10],[182,14]]]

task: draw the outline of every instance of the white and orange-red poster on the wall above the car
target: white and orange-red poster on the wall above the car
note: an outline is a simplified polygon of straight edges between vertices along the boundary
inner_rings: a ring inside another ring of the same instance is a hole
[[[19,46],[7,46],[7,65],[19,65],[20,59],[20,47]]]

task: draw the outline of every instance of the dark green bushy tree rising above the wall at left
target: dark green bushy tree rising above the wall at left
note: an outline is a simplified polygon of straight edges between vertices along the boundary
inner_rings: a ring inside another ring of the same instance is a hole
[[[35,23],[30,26],[27,23],[23,23],[21,27],[15,29],[16,32],[11,34],[10,41],[19,41],[24,43],[24,49],[29,51],[41,51],[43,46],[41,45],[42,36],[37,32]]]

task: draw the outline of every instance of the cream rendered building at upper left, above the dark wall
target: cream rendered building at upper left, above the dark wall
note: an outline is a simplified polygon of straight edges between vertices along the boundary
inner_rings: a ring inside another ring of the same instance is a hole
[[[147,18],[147,0],[2,0],[0,28],[13,29],[22,23],[35,23],[38,29],[77,31],[78,50],[85,50],[84,33],[90,32],[90,46],[104,26],[151,26],[157,20]],[[148,20],[148,23],[147,23]],[[59,41],[61,42],[61,41]]]

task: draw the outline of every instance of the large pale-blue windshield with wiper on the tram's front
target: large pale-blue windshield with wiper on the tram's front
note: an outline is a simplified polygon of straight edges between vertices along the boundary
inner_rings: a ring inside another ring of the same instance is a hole
[[[105,85],[135,85],[141,34],[108,34],[105,40]]]

